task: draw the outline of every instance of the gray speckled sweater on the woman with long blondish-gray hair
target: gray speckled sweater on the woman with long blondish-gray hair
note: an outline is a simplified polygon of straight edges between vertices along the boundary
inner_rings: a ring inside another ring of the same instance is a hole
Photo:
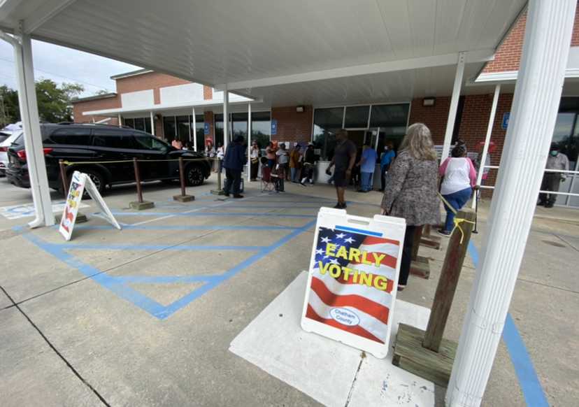
[[[438,163],[400,152],[386,176],[382,208],[408,225],[439,224]]]

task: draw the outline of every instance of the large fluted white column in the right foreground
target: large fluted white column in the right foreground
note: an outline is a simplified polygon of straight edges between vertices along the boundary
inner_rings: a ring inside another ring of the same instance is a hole
[[[555,129],[576,5],[577,0],[529,1],[501,172],[448,383],[448,406],[479,406],[485,393]]]

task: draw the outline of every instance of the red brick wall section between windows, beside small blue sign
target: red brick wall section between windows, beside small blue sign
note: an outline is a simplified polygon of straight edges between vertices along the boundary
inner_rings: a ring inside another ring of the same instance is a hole
[[[303,112],[296,112],[296,106],[272,108],[271,119],[278,121],[278,131],[272,140],[308,143],[312,139],[313,107],[303,106]]]

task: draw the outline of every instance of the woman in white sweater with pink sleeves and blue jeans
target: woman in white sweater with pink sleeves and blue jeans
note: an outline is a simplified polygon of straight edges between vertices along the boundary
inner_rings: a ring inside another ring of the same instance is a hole
[[[457,145],[450,153],[452,157],[444,160],[438,173],[443,177],[441,195],[453,209],[459,210],[469,201],[473,188],[476,187],[476,171],[473,162],[466,157],[464,144]],[[455,213],[444,204],[446,222],[444,229],[438,231],[442,236],[450,236],[455,223]]]

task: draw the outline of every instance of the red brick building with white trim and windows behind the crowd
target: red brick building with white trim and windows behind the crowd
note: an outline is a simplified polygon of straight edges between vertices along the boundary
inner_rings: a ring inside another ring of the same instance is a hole
[[[563,99],[555,127],[553,141],[559,143],[569,156],[571,169],[578,167],[579,124],[579,14],[569,53]],[[496,50],[494,59],[466,78],[459,99],[453,142],[466,141],[470,152],[475,152],[484,141],[495,85],[501,85],[496,115],[492,126],[492,142],[496,151],[492,165],[498,166],[501,158],[510,105],[517,78],[526,14],[522,13],[508,35]],[[167,141],[180,138],[201,148],[206,138],[223,142],[223,92],[187,80],[149,70],[139,70],[113,76],[117,92],[78,99],[74,103],[76,122],[108,122],[135,127],[154,133]],[[436,92],[435,92],[436,93]],[[229,94],[230,134],[248,132],[248,104],[251,104],[252,138],[262,145],[278,140],[291,143],[313,141],[322,160],[333,154],[334,132],[345,127],[350,137],[362,145],[370,141],[383,149],[385,141],[398,145],[408,124],[424,122],[431,129],[434,143],[443,143],[450,108],[450,94],[435,97],[415,97],[406,101],[358,100],[352,103],[327,106],[324,103],[268,105],[259,99]],[[299,99],[296,98],[296,99]],[[365,103],[366,102],[366,103]],[[279,106],[278,106],[279,105]],[[497,170],[493,169],[485,183],[494,185]],[[561,190],[577,192],[579,180],[568,178]],[[559,197],[558,204],[579,206],[576,197]]]

